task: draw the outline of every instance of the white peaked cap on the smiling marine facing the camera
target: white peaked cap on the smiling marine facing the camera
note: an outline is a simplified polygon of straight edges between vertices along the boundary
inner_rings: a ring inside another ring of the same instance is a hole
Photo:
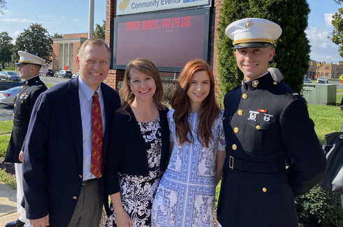
[[[268,47],[282,34],[275,22],[261,18],[245,18],[228,25],[226,36],[233,40],[233,49]]]

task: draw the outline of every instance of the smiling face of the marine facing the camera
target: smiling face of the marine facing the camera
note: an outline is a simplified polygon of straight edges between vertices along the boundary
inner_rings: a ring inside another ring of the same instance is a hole
[[[249,81],[268,72],[268,62],[274,57],[275,50],[271,46],[249,47],[236,49],[234,54],[240,71]]]

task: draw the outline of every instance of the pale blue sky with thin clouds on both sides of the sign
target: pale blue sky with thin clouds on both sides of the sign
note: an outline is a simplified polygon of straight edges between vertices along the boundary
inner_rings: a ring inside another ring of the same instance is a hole
[[[78,34],[88,32],[89,0],[6,0],[4,14],[0,15],[0,33],[7,31],[14,40],[32,23],[42,24],[50,35]],[[51,3],[52,2],[52,3]],[[338,64],[343,58],[338,54],[338,45],[328,36],[333,31],[331,16],[343,5],[333,0],[307,0],[309,13],[307,38],[311,45],[310,59],[332,61]],[[94,26],[105,20],[106,0],[94,0]]]

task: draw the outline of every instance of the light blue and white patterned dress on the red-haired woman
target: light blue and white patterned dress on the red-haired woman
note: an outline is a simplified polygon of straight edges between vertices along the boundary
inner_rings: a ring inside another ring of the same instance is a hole
[[[173,112],[168,112],[168,123],[174,147],[152,204],[152,226],[213,226],[217,150],[226,146],[223,111],[214,120],[209,147],[200,144],[196,133],[194,143],[177,145]],[[196,112],[189,114],[188,123],[196,132]]]

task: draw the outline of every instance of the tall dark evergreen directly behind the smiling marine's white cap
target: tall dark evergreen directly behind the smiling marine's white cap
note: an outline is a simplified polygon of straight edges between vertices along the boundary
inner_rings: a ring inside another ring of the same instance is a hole
[[[306,38],[309,5],[306,0],[224,0],[217,29],[219,101],[233,87],[240,85],[243,74],[233,56],[232,41],[225,35],[228,24],[247,17],[271,20],[282,27],[282,36],[275,41],[275,57],[270,67],[277,67],[284,74],[284,81],[296,92],[302,89],[303,76],[307,74],[309,41]],[[282,9],[282,10],[280,10]]]

